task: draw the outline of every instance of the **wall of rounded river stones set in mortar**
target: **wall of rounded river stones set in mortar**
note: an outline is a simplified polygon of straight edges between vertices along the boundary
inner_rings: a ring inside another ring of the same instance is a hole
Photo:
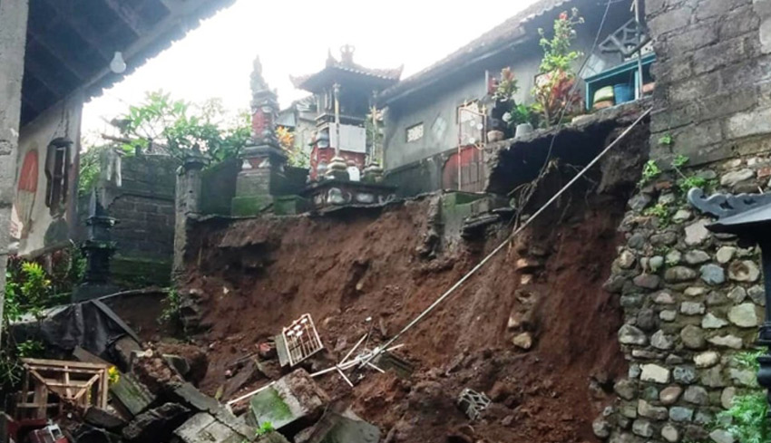
[[[768,191],[771,156],[727,159],[682,170],[708,191]],[[625,323],[619,342],[629,375],[615,404],[594,423],[620,442],[734,441],[717,414],[736,395],[757,390],[738,353],[756,348],[765,305],[759,248],[714,235],[714,217],[686,201],[677,171],[653,178],[629,200],[612,274]]]

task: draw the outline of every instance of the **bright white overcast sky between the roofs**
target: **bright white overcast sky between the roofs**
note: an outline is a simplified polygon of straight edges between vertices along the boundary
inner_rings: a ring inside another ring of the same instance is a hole
[[[187,101],[220,98],[229,110],[249,107],[249,73],[259,54],[282,106],[307,95],[289,75],[317,72],[327,49],[345,43],[354,61],[372,68],[405,65],[403,78],[453,53],[535,0],[238,0],[183,40],[87,103],[83,134],[142,100],[145,91]],[[93,137],[89,137],[93,140]]]

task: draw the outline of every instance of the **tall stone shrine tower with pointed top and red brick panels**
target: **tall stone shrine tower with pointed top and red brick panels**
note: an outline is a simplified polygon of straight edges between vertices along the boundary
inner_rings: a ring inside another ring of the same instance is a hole
[[[276,137],[276,92],[270,91],[262,78],[259,58],[254,61],[251,91],[252,140],[241,153],[243,163],[231,207],[232,215],[239,217],[256,216],[273,203],[273,197],[281,193],[287,163]]]

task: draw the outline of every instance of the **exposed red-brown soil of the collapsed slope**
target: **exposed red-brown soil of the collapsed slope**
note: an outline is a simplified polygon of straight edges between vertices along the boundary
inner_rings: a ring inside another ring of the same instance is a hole
[[[382,213],[201,222],[184,287],[202,293],[209,328],[194,337],[209,350],[202,389],[213,395],[227,382],[229,362],[256,352],[302,313],[313,316],[327,361],[341,359],[370,329],[382,342],[511,232],[499,226],[485,239],[421,258],[430,199]],[[398,353],[415,364],[412,379],[368,371],[354,389],[335,374],[317,380],[376,423],[386,441],[596,441],[591,421],[625,371],[618,300],[601,289],[624,203],[581,188],[544,213],[405,334]],[[529,284],[516,268],[522,257],[542,261]],[[518,332],[507,328],[510,313],[525,311],[534,336],[529,352],[512,344]],[[470,423],[454,404],[466,387],[493,399],[480,421]]]

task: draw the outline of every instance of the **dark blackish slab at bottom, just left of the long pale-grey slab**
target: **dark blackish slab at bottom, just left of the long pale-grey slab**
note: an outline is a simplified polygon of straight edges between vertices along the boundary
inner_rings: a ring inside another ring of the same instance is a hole
[[[125,428],[123,438],[130,441],[165,441],[190,416],[190,409],[165,403],[138,415]]]

